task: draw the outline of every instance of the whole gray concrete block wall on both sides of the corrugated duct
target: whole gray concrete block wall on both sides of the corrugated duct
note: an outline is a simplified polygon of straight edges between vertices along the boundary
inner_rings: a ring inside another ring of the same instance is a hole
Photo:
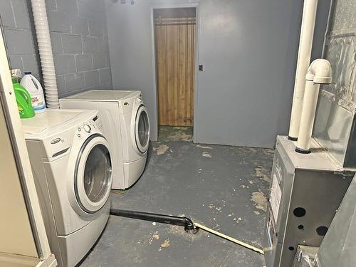
[[[46,0],[60,97],[111,89],[104,0]],[[41,79],[29,0],[1,0],[0,17],[11,68]]]

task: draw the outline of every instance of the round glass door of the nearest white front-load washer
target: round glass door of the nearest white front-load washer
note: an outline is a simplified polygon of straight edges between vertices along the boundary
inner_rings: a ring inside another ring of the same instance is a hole
[[[101,209],[110,195],[112,164],[108,141],[92,135],[80,149],[75,167],[75,197],[80,207],[94,213]]]

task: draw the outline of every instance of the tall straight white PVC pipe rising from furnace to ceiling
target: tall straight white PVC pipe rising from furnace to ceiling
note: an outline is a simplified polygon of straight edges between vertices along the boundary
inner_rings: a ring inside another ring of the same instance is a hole
[[[297,69],[295,71],[293,104],[288,134],[290,140],[297,140],[298,138],[300,114],[303,106],[305,75],[307,74],[310,64],[317,6],[318,0],[304,0]]]

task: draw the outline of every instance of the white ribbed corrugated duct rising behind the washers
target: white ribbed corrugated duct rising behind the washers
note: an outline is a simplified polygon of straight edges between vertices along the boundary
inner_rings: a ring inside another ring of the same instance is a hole
[[[46,104],[48,108],[59,108],[56,71],[54,69],[51,38],[45,0],[31,0],[33,20],[35,21],[38,51],[41,59]]]

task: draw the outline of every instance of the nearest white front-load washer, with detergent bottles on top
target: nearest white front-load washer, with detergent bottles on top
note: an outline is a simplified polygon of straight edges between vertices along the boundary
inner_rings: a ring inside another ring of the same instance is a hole
[[[110,213],[112,162],[98,110],[47,109],[21,122],[51,251],[59,266],[75,266]]]

